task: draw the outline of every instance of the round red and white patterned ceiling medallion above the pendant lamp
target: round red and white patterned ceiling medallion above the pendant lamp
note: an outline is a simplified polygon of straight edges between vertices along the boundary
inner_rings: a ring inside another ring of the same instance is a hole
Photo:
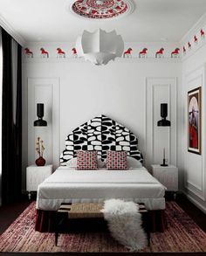
[[[71,10],[81,17],[108,19],[131,13],[134,4],[131,0],[77,0]]]

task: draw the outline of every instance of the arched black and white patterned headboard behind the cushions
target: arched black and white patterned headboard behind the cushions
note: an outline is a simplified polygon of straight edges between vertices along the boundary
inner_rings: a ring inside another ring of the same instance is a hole
[[[77,156],[78,150],[97,150],[102,160],[106,159],[106,150],[127,151],[143,162],[140,150],[137,148],[137,137],[116,121],[100,115],[75,128],[65,139],[65,150],[60,156],[63,164]]]

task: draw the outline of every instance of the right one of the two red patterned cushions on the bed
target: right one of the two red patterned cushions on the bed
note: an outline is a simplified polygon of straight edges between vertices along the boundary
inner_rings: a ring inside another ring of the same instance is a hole
[[[127,170],[127,152],[107,151],[106,168],[108,170]]]

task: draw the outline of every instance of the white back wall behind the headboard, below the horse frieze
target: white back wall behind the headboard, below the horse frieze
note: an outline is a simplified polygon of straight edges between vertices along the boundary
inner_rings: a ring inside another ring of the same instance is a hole
[[[160,163],[163,147],[167,149],[170,163],[178,164],[176,97],[181,91],[178,59],[120,59],[106,66],[55,56],[24,59],[23,82],[24,169],[37,158],[34,150],[37,135],[45,140],[47,163],[57,166],[58,156],[65,148],[65,136],[98,114],[108,115],[138,136],[148,168],[151,163]],[[37,119],[35,108],[40,101],[45,102],[48,127],[39,129],[34,128],[32,122]],[[172,127],[160,131],[156,122],[161,119],[162,101],[168,102]],[[150,142],[154,142],[155,154],[147,154]]]

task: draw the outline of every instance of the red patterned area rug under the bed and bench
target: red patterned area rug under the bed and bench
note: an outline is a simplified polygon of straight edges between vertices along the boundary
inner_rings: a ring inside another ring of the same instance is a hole
[[[168,229],[151,233],[151,244],[141,253],[206,252],[206,233],[175,202],[167,203]],[[127,253],[107,232],[54,234],[34,231],[35,202],[0,236],[0,252]]]

